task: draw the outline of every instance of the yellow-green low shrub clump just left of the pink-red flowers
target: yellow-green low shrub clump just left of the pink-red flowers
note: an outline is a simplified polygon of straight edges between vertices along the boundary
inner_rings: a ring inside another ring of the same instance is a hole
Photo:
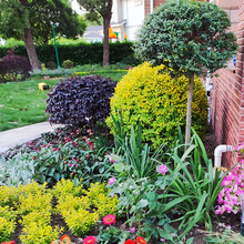
[[[104,184],[91,184],[88,191],[84,191],[81,184],[77,191],[73,191],[74,189],[74,183],[62,180],[54,186],[54,194],[58,197],[58,212],[75,235],[88,233],[100,216],[104,216],[108,212],[116,213],[118,197],[108,196],[109,191]],[[104,202],[101,202],[101,199]]]

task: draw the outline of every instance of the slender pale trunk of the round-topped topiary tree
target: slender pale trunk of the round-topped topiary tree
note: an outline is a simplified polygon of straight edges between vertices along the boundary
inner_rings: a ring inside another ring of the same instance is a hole
[[[194,88],[194,73],[190,74],[190,79],[189,79],[189,98],[187,98],[186,128],[185,128],[185,151],[189,149],[191,141],[193,88]]]

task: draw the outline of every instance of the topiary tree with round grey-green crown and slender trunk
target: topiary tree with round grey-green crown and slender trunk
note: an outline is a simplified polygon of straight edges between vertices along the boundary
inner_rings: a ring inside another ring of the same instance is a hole
[[[189,78],[185,145],[191,138],[194,75],[213,73],[232,58],[237,44],[227,32],[227,13],[215,4],[169,0],[148,16],[138,35],[135,54],[153,64],[165,64]]]

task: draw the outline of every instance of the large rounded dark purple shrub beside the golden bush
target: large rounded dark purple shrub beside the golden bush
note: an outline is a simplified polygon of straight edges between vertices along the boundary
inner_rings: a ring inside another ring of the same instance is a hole
[[[114,88],[115,82],[99,75],[61,80],[49,93],[49,122],[94,126],[109,115]]]

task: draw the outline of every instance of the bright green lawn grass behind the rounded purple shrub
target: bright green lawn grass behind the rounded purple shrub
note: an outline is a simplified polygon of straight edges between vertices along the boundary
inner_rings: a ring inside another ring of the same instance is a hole
[[[120,81],[128,71],[124,70],[98,70],[93,74],[111,78]],[[90,72],[80,73],[81,77]],[[20,128],[29,124],[48,121],[45,113],[45,100],[49,91],[38,89],[40,82],[45,82],[50,88],[55,85],[61,78],[43,80],[32,78],[23,82],[9,82],[0,84],[0,131]]]

